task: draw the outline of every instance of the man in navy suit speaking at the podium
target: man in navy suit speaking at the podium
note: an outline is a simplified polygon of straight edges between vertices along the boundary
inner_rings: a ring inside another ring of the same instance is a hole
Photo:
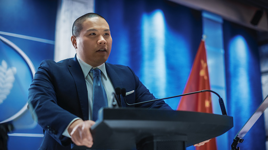
[[[116,87],[126,88],[128,103],[155,99],[134,72],[122,65],[106,63],[112,45],[106,20],[94,13],[79,17],[73,24],[72,45],[76,56],[58,63],[42,61],[29,89],[32,117],[44,129],[40,150],[70,150],[71,143],[92,147],[90,127],[93,108],[93,75],[101,70],[101,82],[108,105]],[[122,101],[122,107],[127,107]],[[164,101],[145,103],[138,107],[171,109]]]

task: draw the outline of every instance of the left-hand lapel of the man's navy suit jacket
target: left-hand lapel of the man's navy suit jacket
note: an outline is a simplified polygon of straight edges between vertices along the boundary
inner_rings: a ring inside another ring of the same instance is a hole
[[[83,119],[89,120],[89,116],[88,116],[89,104],[88,104],[87,86],[86,86],[85,78],[83,75],[83,71],[79,65],[79,62],[76,56],[70,60],[68,68],[76,83],[76,88],[77,88],[77,93],[78,93],[78,97],[80,101],[80,107],[81,107],[82,114],[83,114]]]

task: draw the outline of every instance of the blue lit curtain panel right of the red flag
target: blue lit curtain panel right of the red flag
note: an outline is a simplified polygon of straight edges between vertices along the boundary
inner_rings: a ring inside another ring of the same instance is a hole
[[[224,21],[224,49],[226,62],[226,90],[228,114],[234,117],[234,127],[229,131],[230,143],[236,133],[261,104],[260,59],[255,30]],[[263,115],[252,126],[239,144],[241,150],[265,150]]]

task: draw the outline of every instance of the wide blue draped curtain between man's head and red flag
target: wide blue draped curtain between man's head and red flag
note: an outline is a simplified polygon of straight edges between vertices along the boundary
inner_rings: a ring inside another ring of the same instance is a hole
[[[157,98],[182,94],[202,38],[201,12],[165,0],[96,0],[113,39],[108,62],[129,66]],[[166,100],[176,109],[179,99]]]

